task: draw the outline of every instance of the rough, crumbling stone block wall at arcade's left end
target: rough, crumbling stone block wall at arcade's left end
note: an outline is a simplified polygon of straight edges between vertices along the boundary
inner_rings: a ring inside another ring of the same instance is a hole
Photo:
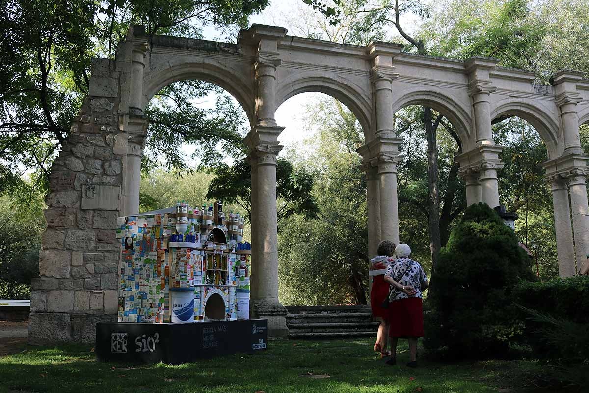
[[[40,276],[32,281],[32,344],[92,342],[96,322],[116,319],[119,247],[114,228],[124,162],[124,154],[114,154],[121,134],[121,72],[116,66],[109,60],[94,62],[92,90],[97,95],[84,100],[51,167]],[[114,191],[110,206],[92,201],[103,189]]]

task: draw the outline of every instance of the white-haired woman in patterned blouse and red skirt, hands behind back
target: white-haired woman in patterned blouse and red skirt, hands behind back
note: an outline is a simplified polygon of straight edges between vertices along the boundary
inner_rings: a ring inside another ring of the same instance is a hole
[[[395,248],[396,262],[391,263],[385,280],[391,284],[389,292],[389,335],[391,358],[388,364],[396,364],[396,347],[399,338],[409,339],[409,362],[417,366],[417,339],[423,337],[422,290],[429,286],[428,278],[419,262],[411,259],[411,248],[401,243]]]

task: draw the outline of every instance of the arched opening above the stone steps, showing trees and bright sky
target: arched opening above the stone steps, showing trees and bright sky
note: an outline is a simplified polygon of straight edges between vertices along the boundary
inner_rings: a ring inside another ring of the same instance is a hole
[[[285,305],[366,302],[366,181],[356,153],[365,133],[338,99],[300,93],[276,111],[277,124],[286,127],[279,158],[292,166],[294,189],[310,187],[313,197],[300,209],[279,201],[279,299]]]

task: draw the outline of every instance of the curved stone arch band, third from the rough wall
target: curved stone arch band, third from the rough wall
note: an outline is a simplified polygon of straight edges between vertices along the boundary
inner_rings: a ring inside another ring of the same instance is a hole
[[[393,94],[399,97],[393,103],[393,113],[408,105],[428,105],[439,113],[444,114],[454,127],[456,127],[464,148],[470,144],[474,144],[474,135],[471,135],[469,132],[470,125],[472,124],[471,116],[458,100],[449,97],[449,95],[433,87],[429,90],[423,90],[423,87],[418,87],[411,90],[403,90],[397,94],[393,85]]]

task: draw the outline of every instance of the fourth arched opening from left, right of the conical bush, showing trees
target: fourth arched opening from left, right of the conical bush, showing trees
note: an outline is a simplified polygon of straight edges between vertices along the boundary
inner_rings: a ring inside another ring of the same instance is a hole
[[[518,214],[515,234],[530,252],[534,272],[541,278],[558,277],[552,192],[542,167],[556,153],[555,141],[541,119],[514,113],[506,110],[492,121],[495,144],[503,147],[499,158],[504,167],[497,173],[499,200],[508,212]]]

